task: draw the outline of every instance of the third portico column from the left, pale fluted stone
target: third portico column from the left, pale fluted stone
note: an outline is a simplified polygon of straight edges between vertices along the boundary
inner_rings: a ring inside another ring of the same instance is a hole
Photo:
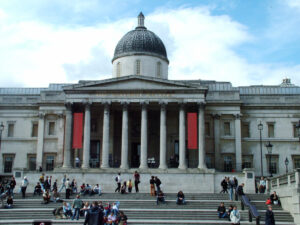
[[[103,136],[102,136],[102,164],[101,168],[109,167],[109,104],[104,104],[103,110]]]

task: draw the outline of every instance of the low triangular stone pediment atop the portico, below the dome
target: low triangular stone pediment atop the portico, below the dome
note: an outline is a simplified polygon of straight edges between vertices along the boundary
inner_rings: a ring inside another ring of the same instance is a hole
[[[180,81],[169,81],[165,79],[134,75],[98,81],[80,81],[78,84],[65,86],[64,90],[176,90],[202,88],[197,85]]]

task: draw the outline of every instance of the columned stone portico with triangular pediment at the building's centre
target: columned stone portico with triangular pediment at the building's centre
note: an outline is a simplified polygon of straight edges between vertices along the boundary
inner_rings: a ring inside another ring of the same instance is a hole
[[[206,169],[203,131],[206,91],[201,86],[143,76],[65,87],[69,110],[72,113],[78,110],[84,112],[82,169],[90,166],[101,169],[119,167],[124,170],[138,167],[144,170],[149,166],[167,169],[171,158],[179,163],[179,169],[186,169],[186,112],[189,110],[196,110],[199,115],[197,167]],[[65,168],[74,161],[68,157],[74,155],[70,144],[72,130],[69,130],[72,127],[69,124],[72,123],[69,118],[72,114],[67,116]],[[91,130],[92,125],[97,126],[96,131]],[[91,141],[99,142],[99,158],[91,158]],[[175,143],[179,145],[178,152],[175,152]],[[91,159],[97,163],[92,164]]]

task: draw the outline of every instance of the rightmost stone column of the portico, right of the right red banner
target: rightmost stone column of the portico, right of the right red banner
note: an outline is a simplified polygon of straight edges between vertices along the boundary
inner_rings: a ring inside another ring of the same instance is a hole
[[[198,168],[206,169],[205,164],[205,103],[201,102],[198,105]]]

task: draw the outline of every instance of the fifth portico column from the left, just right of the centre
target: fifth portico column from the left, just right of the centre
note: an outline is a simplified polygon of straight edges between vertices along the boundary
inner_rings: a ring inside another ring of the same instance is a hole
[[[147,152],[148,152],[148,113],[147,102],[142,103],[142,121],[141,121],[141,161],[140,169],[148,168]]]

